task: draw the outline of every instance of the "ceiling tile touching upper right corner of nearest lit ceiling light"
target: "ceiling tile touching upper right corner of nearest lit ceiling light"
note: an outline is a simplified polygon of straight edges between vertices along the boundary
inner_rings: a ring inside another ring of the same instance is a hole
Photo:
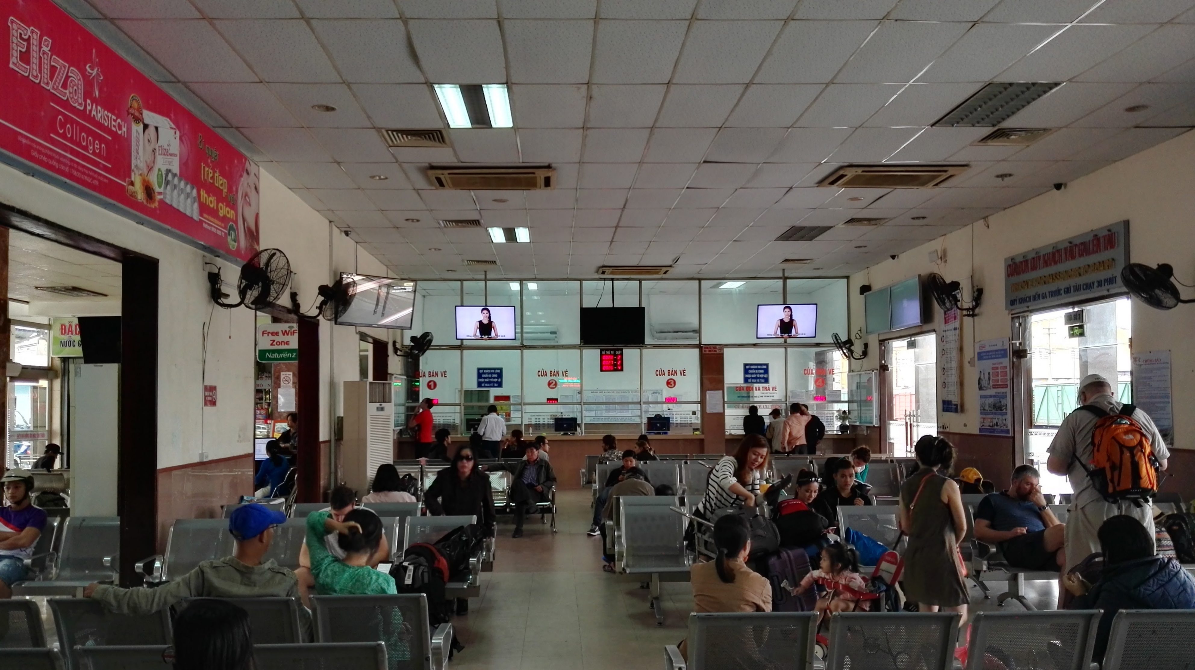
[[[502,24],[516,84],[584,84],[589,80],[594,21],[505,20]]]

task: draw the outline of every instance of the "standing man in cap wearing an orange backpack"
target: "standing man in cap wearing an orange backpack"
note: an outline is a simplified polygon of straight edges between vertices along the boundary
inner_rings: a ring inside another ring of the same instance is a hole
[[[1066,475],[1074,490],[1066,521],[1066,573],[1099,551],[1099,527],[1116,515],[1141,522],[1153,537],[1150,499],[1170,451],[1144,411],[1116,401],[1113,385],[1087,375],[1079,408],[1062,419],[1046,468]]]

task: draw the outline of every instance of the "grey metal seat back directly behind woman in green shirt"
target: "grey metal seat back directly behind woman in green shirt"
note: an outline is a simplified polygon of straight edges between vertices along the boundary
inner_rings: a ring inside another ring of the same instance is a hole
[[[428,598],[423,594],[398,596],[312,596],[317,643],[385,643],[387,653],[399,653],[405,643],[407,660],[398,668],[442,670],[448,663],[452,623],[433,632]]]

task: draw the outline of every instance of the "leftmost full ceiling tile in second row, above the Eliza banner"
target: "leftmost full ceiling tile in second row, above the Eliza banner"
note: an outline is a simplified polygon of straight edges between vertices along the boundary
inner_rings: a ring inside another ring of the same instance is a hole
[[[257,81],[208,21],[121,20],[116,25],[180,81]]]

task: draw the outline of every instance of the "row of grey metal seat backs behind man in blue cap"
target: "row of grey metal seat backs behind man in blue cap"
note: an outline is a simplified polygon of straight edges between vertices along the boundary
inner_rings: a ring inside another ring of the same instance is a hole
[[[245,609],[250,616],[253,645],[299,645],[310,641],[306,610],[296,598],[222,598]],[[66,670],[88,668],[141,668],[147,659],[159,658],[160,650],[173,643],[171,613],[129,616],[109,611],[103,603],[87,598],[50,598],[57,647]],[[382,668],[391,660],[407,662],[403,668],[440,669],[447,660],[452,643],[451,623],[431,631],[428,623],[427,597],[422,594],[397,596],[312,596],[314,641],[384,644]],[[180,611],[188,603],[179,603]],[[47,649],[42,615],[31,600],[0,601],[0,617],[7,629],[0,635],[0,649]],[[149,649],[158,657],[147,656]],[[93,650],[105,650],[94,656]],[[313,651],[318,653],[318,651]],[[91,654],[91,656],[90,656]],[[4,656],[0,656],[2,659]],[[98,663],[98,665],[97,665]],[[343,659],[337,659],[343,665]],[[8,668],[5,663],[0,666]],[[356,668],[357,665],[345,665]],[[13,665],[16,668],[16,665]]]

